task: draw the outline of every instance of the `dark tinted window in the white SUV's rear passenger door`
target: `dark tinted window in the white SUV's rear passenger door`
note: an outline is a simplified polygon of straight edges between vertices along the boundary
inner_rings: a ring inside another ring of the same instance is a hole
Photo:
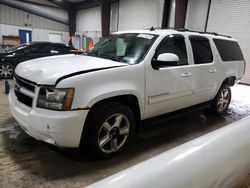
[[[193,49],[194,63],[212,63],[213,54],[209,40],[206,37],[200,36],[190,36],[189,39]]]

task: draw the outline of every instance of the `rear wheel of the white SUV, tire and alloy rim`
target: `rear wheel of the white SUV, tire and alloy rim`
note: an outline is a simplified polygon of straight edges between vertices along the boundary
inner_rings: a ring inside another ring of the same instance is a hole
[[[229,85],[222,85],[217,95],[211,103],[211,110],[214,114],[222,115],[224,114],[231,102],[231,89]]]

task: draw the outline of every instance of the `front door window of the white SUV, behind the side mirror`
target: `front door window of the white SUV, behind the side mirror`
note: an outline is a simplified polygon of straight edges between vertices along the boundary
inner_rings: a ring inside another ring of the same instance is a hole
[[[182,35],[170,35],[163,39],[156,50],[155,57],[163,53],[173,53],[180,59],[178,65],[188,65],[185,38]]]

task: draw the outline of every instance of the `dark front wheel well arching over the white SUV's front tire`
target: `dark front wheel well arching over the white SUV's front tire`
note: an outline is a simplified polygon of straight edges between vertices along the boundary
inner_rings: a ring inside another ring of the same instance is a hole
[[[98,101],[93,106],[91,106],[89,114],[91,114],[91,111],[93,111],[94,109],[99,108],[101,105],[105,105],[108,102],[118,102],[129,107],[134,113],[136,118],[136,124],[138,125],[135,127],[135,131],[136,132],[139,131],[140,129],[139,125],[141,122],[141,111],[140,111],[139,101],[135,95],[119,95]]]

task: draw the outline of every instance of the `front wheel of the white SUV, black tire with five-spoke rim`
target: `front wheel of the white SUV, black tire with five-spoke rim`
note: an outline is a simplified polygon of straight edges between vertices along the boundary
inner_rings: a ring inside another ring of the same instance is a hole
[[[83,134],[85,148],[82,149],[87,147],[95,159],[107,159],[127,148],[134,133],[135,117],[127,106],[109,102],[90,112],[86,126]]]

